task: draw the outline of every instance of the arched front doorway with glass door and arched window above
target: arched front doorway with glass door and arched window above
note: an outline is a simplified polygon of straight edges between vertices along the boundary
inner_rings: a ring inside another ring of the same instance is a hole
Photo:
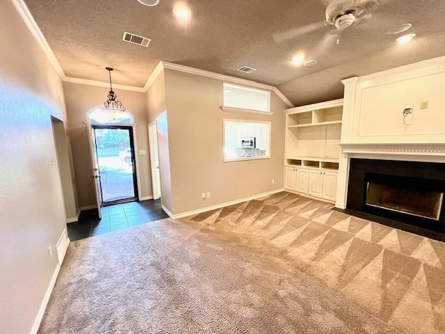
[[[138,200],[133,115],[98,106],[86,113],[86,122],[98,207]]]

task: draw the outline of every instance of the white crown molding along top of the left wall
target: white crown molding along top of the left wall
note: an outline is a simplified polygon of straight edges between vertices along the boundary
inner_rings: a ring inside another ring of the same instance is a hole
[[[39,43],[40,47],[42,47],[44,53],[47,55],[51,65],[53,65],[54,69],[56,70],[60,78],[64,79],[65,72],[63,72],[62,67],[60,66],[60,63],[58,63],[53,50],[51,50],[51,47],[49,47],[46,38],[44,38],[42,31],[35,22],[35,19],[33,15],[31,15],[31,12],[26,6],[26,3],[24,3],[24,0],[12,0],[12,2],[13,5],[15,6],[15,9],[17,9],[17,12],[19,13],[20,17],[22,17],[23,21],[28,27],[29,31],[31,31],[35,40]]]

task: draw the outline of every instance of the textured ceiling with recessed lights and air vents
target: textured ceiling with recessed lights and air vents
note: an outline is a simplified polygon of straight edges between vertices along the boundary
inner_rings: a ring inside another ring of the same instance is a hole
[[[369,74],[445,54],[444,0],[380,0],[335,45],[332,26],[276,42],[274,35],[324,19],[325,0],[190,0],[193,19],[176,22],[177,1],[156,7],[136,0],[26,0],[29,10],[68,77],[144,86],[157,63],[170,61],[279,86],[294,104],[341,97],[340,79]],[[418,37],[398,46],[387,29],[412,22]],[[122,41],[124,31],[152,38],[148,48]],[[333,39],[332,39],[333,38]],[[316,58],[294,67],[293,54]],[[256,67],[241,74],[241,65]]]

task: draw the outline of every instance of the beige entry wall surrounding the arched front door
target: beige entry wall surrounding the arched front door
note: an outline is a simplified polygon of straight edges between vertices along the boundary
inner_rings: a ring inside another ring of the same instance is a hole
[[[84,84],[63,84],[67,107],[67,128],[70,137],[74,170],[76,173],[77,193],[80,207],[95,205],[94,184],[90,179],[92,173],[90,144],[88,132],[84,122],[86,113],[95,106],[102,105],[106,100],[109,88],[89,86]],[[146,154],[136,152],[139,164],[140,193],[142,197],[152,196],[152,179],[148,154],[147,128],[147,95],[131,90],[116,90],[118,99],[133,114],[136,126],[136,143],[138,150],[145,150]]]

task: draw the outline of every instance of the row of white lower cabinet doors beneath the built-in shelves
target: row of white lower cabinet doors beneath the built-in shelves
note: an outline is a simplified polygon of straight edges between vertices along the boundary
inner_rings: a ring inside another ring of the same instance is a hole
[[[316,198],[335,201],[337,196],[337,172],[322,169],[284,168],[284,188]]]

